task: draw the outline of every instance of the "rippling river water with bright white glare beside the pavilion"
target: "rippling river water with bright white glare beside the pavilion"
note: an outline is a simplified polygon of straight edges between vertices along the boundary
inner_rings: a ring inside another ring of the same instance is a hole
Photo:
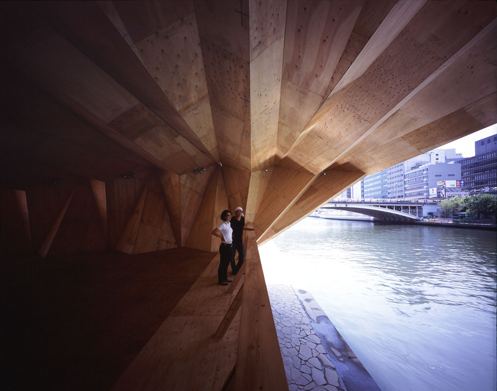
[[[495,231],[307,217],[259,247],[382,391],[495,391]]]

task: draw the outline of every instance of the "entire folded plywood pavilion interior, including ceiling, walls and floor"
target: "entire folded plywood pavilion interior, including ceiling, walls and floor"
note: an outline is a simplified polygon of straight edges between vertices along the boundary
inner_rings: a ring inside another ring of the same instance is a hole
[[[2,1],[3,385],[285,390],[257,244],[496,123],[496,15]],[[254,231],[226,292],[211,231],[237,206]]]

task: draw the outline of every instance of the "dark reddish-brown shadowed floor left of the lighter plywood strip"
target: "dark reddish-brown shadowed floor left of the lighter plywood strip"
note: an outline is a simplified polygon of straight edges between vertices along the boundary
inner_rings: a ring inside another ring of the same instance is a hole
[[[203,305],[202,295],[182,298],[199,284],[205,287],[202,294],[223,295],[213,266],[217,257],[183,248],[51,260],[2,258],[0,388],[111,389],[172,316],[178,323],[170,328],[195,334],[181,320]],[[229,297],[219,302],[219,312],[205,313],[213,332],[226,312],[225,301],[229,305]],[[198,365],[195,370],[202,370]]]

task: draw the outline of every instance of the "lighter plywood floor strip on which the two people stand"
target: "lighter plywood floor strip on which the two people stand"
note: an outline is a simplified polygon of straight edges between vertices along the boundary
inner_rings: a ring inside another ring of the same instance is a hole
[[[217,285],[215,257],[183,296],[112,391],[221,391],[237,360],[241,311],[219,340],[214,334],[244,277],[233,290]],[[241,272],[242,273],[242,272]]]

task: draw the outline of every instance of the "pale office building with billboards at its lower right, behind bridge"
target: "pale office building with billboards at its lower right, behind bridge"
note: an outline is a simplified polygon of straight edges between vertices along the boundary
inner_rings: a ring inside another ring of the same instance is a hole
[[[451,186],[452,181],[454,181],[454,186]],[[430,198],[431,196],[431,198],[435,198],[442,195],[442,192],[438,193],[437,189],[456,187],[457,183],[461,186],[461,165],[459,163],[430,163],[415,166],[405,172],[405,197],[419,199]]]

